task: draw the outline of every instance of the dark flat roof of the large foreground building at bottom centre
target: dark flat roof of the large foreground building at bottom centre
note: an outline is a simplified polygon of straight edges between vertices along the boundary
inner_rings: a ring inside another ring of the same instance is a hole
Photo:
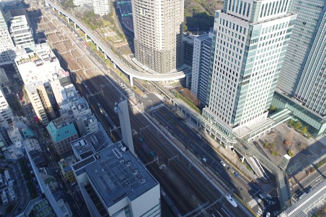
[[[88,164],[83,165],[83,161],[88,161]],[[87,174],[107,207],[125,197],[133,200],[158,184],[144,165],[120,143],[83,161],[73,165],[75,173],[77,176]]]

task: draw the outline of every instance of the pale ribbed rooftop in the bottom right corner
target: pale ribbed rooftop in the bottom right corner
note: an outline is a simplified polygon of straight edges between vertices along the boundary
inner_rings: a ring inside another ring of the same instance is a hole
[[[282,212],[280,217],[295,216],[306,217],[312,216],[314,209],[318,206],[320,208],[325,204],[323,198],[326,197],[326,180],[321,181],[311,191],[296,201],[292,206]],[[318,209],[318,208],[317,208]]]

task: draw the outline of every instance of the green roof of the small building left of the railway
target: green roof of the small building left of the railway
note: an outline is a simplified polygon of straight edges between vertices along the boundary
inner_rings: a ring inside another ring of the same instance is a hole
[[[52,141],[58,143],[62,140],[65,140],[73,135],[77,134],[76,128],[73,124],[67,124],[57,129],[56,125],[51,121],[46,126],[47,131],[49,132]]]

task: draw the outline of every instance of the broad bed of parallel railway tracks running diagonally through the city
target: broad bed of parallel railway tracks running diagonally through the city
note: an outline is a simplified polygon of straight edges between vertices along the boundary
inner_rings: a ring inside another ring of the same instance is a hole
[[[41,20],[41,22],[49,22],[49,19],[44,18],[44,20]],[[53,20],[53,23],[46,25],[46,28],[48,30],[55,30],[57,26],[60,25],[62,25],[61,22]],[[43,26],[45,25],[41,25],[41,27]],[[62,28],[66,27],[63,26]],[[62,41],[60,43],[53,44],[53,48],[58,51],[57,54],[64,53],[67,50],[74,49],[77,46],[73,45],[72,41],[68,37],[69,32],[67,34],[64,32],[65,31],[62,29],[61,34],[50,34],[47,36],[49,42]],[[73,37],[73,35],[70,34],[70,37]],[[65,39],[68,40],[64,41]],[[83,67],[94,67],[93,62],[91,62],[87,57],[79,58],[77,61],[76,57],[82,57],[85,55],[85,52],[83,51],[85,51],[85,49],[75,49],[72,51],[71,56],[69,53],[67,53],[65,56],[63,55],[60,58],[62,66],[65,67],[66,70],[78,70]],[[111,78],[107,75],[103,76],[101,73],[99,73],[99,70],[103,71],[103,69],[96,69],[94,71],[91,70],[87,73],[78,71],[71,73],[71,75],[73,76],[73,80],[75,81],[79,92],[85,97],[87,96],[87,91],[80,84],[80,81],[75,79],[76,75],[82,77],[91,92],[97,93],[99,91],[104,91],[105,94],[103,96],[96,95],[94,98],[96,98],[96,101],[103,106],[105,112],[111,117],[112,121],[119,126],[119,118],[114,113],[114,103],[119,101],[120,95],[114,90],[114,88],[107,86],[107,79]],[[92,107],[92,110],[96,114],[97,118],[102,122],[104,128],[108,130],[107,127],[110,126],[110,123],[101,115],[98,106],[96,106],[95,100],[90,100],[90,106]],[[150,123],[141,114],[134,115],[131,110],[129,110],[129,116],[131,127],[136,131],[138,131],[138,129],[141,127],[150,125]],[[149,131],[143,130],[142,133],[142,137],[146,141],[148,148],[153,150],[155,155],[158,156],[159,165],[165,164],[167,168],[159,169],[157,163],[154,162],[153,164],[147,165],[147,169],[159,181],[160,186],[172,199],[181,214],[186,214],[199,205],[207,202],[212,203],[221,197],[221,194],[216,191],[216,189],[197,170],[190,168],[189,171],[189,163],[181,155],[179,155],[178,161],[170,161],[169,166],[168,159],[171,159],[179,153],[171,146],[171,144],[168,143],[168,141],[166,141],[164,137],[157,134],[154,128],[149,129]],[[115,135],[114,138],[114,140],[117,140],[117,135]],[[146,162],[152,161],[153,157],[144,150],[143,143],[139,141],[138,136],[134,135],[133,139],[135,152],[142,162],[146,164]],[[226,206],[229,207],[230,205],[226,204]],[[224,212],[223,209],[221,209],[221,206],[215,205],[212,208]],[[206,214],[208,213],[206,212]]]

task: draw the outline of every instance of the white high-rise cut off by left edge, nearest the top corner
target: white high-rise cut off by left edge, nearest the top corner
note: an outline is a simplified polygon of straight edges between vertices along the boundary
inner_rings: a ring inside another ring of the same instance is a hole
[[[10,64],[10,51],[15,48],[11,40],[7,21],[4,18],[3,10],[0,8],[0,64]]]

